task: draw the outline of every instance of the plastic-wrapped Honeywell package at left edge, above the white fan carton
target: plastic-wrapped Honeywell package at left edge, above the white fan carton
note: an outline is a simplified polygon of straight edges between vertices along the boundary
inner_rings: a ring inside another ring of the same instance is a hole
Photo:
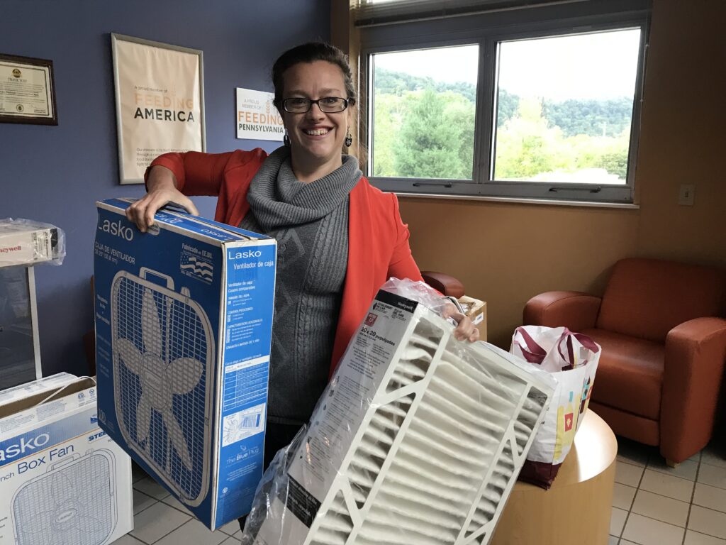
[[[12,265],[61,265],[65,233],[48,223],[31,219],[0,219],[0,267]]]

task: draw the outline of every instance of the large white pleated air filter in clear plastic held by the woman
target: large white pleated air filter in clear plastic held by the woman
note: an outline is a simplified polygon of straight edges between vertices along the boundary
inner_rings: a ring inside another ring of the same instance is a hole
[[[454,339],[436,312],[446,303],[410,280],[379,291],[309,425],[265,473],[242,544],[489,542],[555,382]]]

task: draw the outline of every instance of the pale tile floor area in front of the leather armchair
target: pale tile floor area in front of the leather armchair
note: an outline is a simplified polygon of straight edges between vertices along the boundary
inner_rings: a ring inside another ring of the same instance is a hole
[[[618,444],[610,545],[726,545],[724,448],[672,469],[657,448]]]

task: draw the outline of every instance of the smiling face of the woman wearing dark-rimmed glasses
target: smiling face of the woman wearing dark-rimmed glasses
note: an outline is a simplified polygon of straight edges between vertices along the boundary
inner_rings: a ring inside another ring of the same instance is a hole
[[[300,62],[285,70],[283,99],[323,97],[346,98],[343,72],[325,60]],[[340,163],[340,153],[348,131],[350,109],[325,113],[313,104],[306,113],[290,113],[282,108],[293,161],[305,161],[311,166]],[[339,166],[339,165],[338,165]]]

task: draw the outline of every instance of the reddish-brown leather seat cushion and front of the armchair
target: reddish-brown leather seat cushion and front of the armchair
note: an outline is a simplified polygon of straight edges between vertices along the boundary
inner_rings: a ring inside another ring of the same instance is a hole
[[[592,400],[658,420],[664,345],[603,329],[585,329],[582,333],[603,347],[592,386]]]

